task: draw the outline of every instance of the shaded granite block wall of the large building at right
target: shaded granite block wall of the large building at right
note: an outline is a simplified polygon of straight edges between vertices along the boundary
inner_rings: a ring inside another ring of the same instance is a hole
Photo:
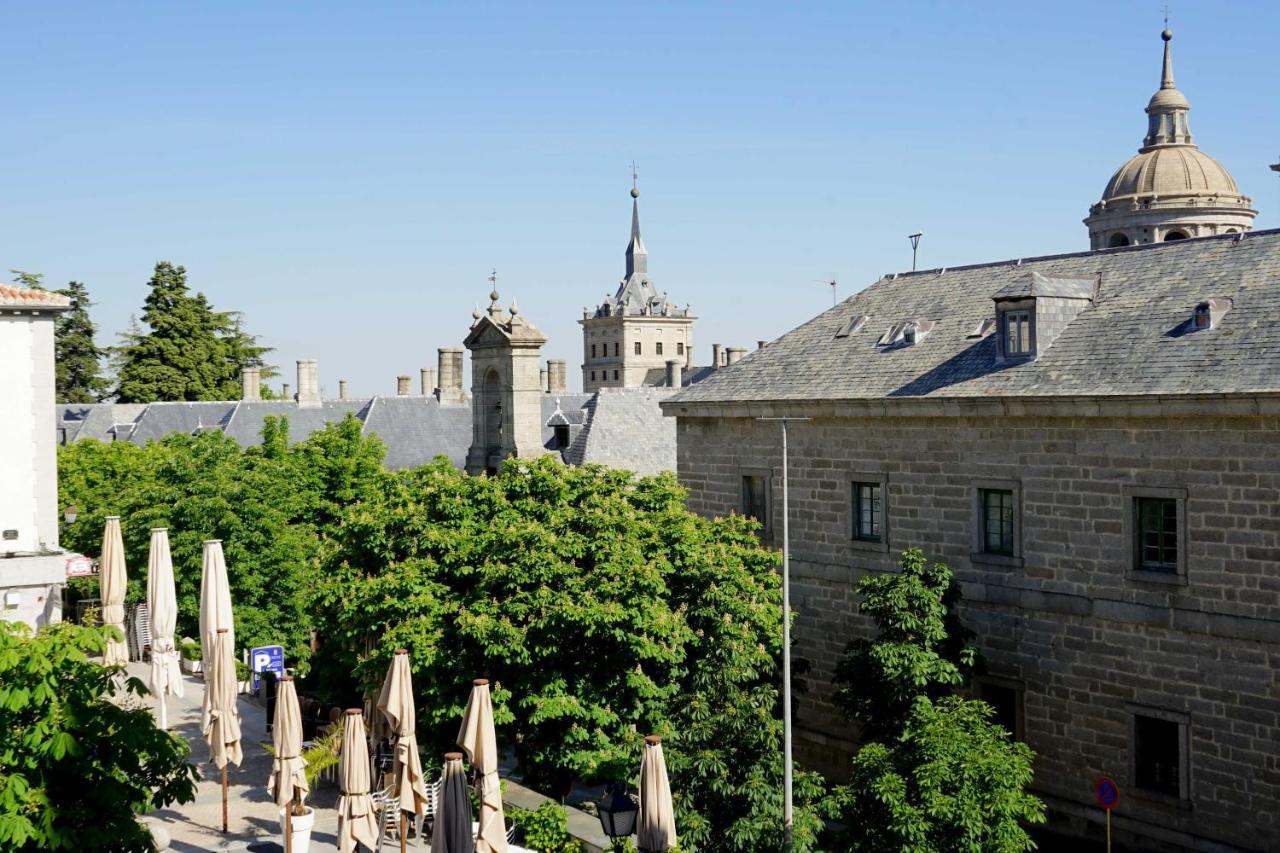
[[[1280,419],[846,418],[790,425],[792,601],[813,671],[799,754],[837,771],[854,731],[829,704],[844,644],[869,625],[854,585],[918,546],[961,581],[991,674],[1023,695],[1037,786],[1100,820],[1098,774],[1121,789],[1119,831],[1192,847],[1280,849]],[[780,425],[680,418],[690,507],[739,510],[744,473],[772,473]],[[886,485],[887,542],[851,539],[850,484]],[[975,489],[1019,498],[1014,557],[974,553]],[[1133,571],[1135,494],[1185,496],[1180,575]],[[1185,721],[1185,799],[1133,784],[1135,712]],[[1207,849],[1207,848],[1204,848]],[[1216,848],[1215,848],[1216,849]]]

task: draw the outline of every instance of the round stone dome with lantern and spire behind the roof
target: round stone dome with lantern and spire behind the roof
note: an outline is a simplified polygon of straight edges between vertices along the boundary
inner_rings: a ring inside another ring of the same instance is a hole
[[[1258,215],[1222,164],[1192,142],[1192,106],[1174,86],[1172,37],[1161,33],[1165,64],[1147,104],[1147,137],[1084,220],[1091,248],[1249,231]]]

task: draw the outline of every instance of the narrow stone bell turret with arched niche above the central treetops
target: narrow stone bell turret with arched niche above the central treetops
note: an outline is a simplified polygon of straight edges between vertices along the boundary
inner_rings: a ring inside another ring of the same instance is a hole
[[[497,470],[509,456],[529,459],[543,447],[541,347],[547,338],[532,323],[498,305],[489,295],[489,311],[472,315],[463,341],[471,351],[471,450],[467,473]]]

